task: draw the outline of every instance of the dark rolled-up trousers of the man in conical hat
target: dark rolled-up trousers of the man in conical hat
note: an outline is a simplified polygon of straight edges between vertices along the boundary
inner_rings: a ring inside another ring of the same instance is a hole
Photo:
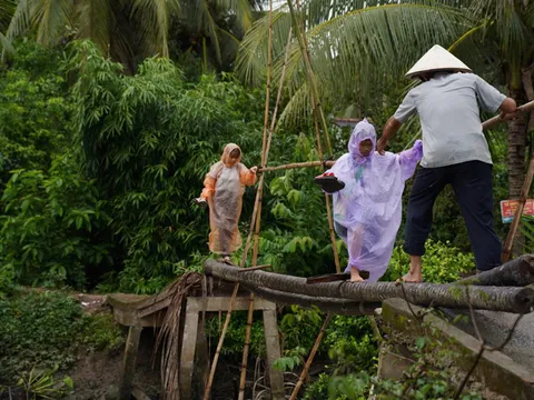
[[[493,228],[492,166],[482,161],[419,167],[409,193],[404,250],[411,256],[425,253],[434,201],[447,183],[453,187],[467,226],[476,268],[487,271],[501,266],[502,243]]]

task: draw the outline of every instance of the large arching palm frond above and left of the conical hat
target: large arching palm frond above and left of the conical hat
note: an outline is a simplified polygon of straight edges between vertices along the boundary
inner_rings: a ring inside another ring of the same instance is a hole
[[[358,2],[352,1],[350,4],[358,6]],[[428,48],[435,43],[453,43],[468,29],[468,20],[458,8],[427,2],[365,7],[314,27],[310,23],[318,19],[313,18],[312,10],[310,6],[307,38],[324,104],[355,99],[360,93],[384,92],[387,84],[402,78]],[[284,9],[274,17],[274,80],[277,81],[290,21]],[[267,59],[266,28],[266,18],[255,23],[238,53],[237,72],[249,83],[257,83],[263,78]],[[296,93],[303,87],[301,64],[301,53],[294,43],[286,70],[285,87],[289,93]],[[303,114],[305,110],[298,106],[305,106],[301,98],[291,102],[291,112]],[[289,118],[288,112],[283,116],[286,121],[296,119]]]

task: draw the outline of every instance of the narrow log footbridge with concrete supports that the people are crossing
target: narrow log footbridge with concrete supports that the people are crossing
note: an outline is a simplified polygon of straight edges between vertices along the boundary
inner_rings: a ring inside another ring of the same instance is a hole
[[[202,393],[205,398],[209,398],[210,394],[206,393],[206,389],[212,383],[212,377],[209,374],[209,354],[205,333],[206,314],[227,311],[228,317],[233,311],[250,310],[250,307],[253,310],[261,311],[267,350],[267,376],[270,383],[269,397],[281,400],[286,398],[288,388],[285,387],[283,373],[274,368],[276,359],[281,357],[276,318],[277,304],[318,307],[327,314],[325,323],[334,314],[376,316],[382,313],[383,309],[388,309],[388,314],[402,313],[405,306],[399,306],[398,301],[409,302],[408,307],[418,304],[455,314],[462,310],[491,310],[521,317],[534,310],[534,287],[532,287],[534,256],[522,256],[492,271],[451,284],[352,283],[347,281],[348,277],[343,274],[306,279],[263,271],[264,268],[265,266],[258,269],[240,269],[208,260],[205,263],[204,274],[186,274],[158,294],[108,296],[108,303],[113,307],[116,320],[129,327],[125,369],[120,382],[121,399],[129,399],[131,393],[140,392],[139,389],[132,389],[132,379],[139,338],[145,327],[160,327],[162,333],[167,332],[162,349],[175,362],[164,361],[161,364],[164,389],[167,388],[165,398],[199,399]],[[237,291],[236,286],[238,286]],[[255,293],[257,298],[251,298],[250,293]],[[532,316],[534,313],[526,317],[528,323],[534,323]],[[409,318],[409,316],[406,317]],[[389,319],[392,319],[390,316]],[[393,318],[390,322],[394,320]],[[251,323],[251,314],[248,323]],[[452,329],[456,328],[452,327]],[[324,330],[322,331],[324,333]],[[444,331],[449,332],[451,328]],[[459,342],[466,340],[462,339],[462,336],[456,339]],[[318,340],[320,341],[320,338]],[[534,338],[531,340],[534,342]],[[246,344],[248,346],[249,342]],[[463,346],[473,348],[468,340]],[[528,353],[528,351],[533,352],[533,349],[531,347],[522,351]],[[217,349],[214,362],[219,353],[220,348]],[[314,352],[308,361],[313,356]],[[502,368],[503,363],[512,363],[506,372],[498,373],[508,373],[508,381],[518,382],[510,387],[514,388],[513,396],[520,399],[524,397],[522,393],[534,394],[534,366],[531,370],[526,370],[501,353],[498,357],[493,353],[485,356],[483,361],[485,369],[482,369],[481,373],[487,373],[484,372],[487,370],[493,371],[487,364]],[[246,369],[247,366],[244,362],[241,364],[244,376],[246,376]],[[304,377],[301,378],[304,380]],[[490,382],[488,386],[491,384]],[[243,390],[243,397],[244,393],[245,390]],[[136,397],[146,399],[140,394]],[[293,398],[296,398],[296,392]]]

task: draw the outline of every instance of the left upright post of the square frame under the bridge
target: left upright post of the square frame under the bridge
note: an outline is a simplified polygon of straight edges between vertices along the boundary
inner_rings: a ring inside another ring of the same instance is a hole
[[[192,372],[195,369],[195,351],[197,344],[198,310],[187,300],[186,322],[180,353],[180,399],[191,399]]]

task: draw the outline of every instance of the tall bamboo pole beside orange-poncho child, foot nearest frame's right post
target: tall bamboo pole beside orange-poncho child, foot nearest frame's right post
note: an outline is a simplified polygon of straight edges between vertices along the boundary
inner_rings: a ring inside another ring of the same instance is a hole
[[[270,2],[270,7],[271,7],[271,2]],[[269,12],[270,12],[269,19],[271,20],[273,10],[270,9]],[[271,34],[271,30],[273,30],[271,21],[269,23],[270,23],[269,24],[269,34]],[[287,44],[286,44],[286,53],[284,56],[284,64],[283,64],[283,68],[281,68],[280,80],[279,80],[279,83],[278,83],[278,93],[276,96],[275,110],[273,112],[273,118],[271,118],[270,127],[269,127],[269,130],[268,130],[268,139],[267,139],[267,143],[266,143],[266,148],[265,148],[264,158],[261,160],[261,168],[265,168],[267,166],[267,159],[268,159],[268,156],[269,156],[270,143],[271,143],[271,140],[273,140],[273,132],[275,130],[276,118],[277,118],[277,114],[278,114],[278,106],[279,106],[280,100],[281,100],[281,92],[283,92],[283,88],[284,88],[284,78],[286,76],[286,64],[287,64],[287,59],[289,57],[290,43],[291,43],[291,29],[289,28],[289,33],[288,33],[288,37],[287,37]],[[270,51],[273,51],[271,46],[273,46],[273,42],[269,42],[269,54],[270,54]],[[261,219],[260,219],[260,216],[261,216],[261,197],[263,197],[263,192],[264,192],[263,180],[261,180],[261,186],[258,188],[258,192],[259,192],[260,204],[259,204],[259,209],[258,209],[258,217],[256,219],[256,227],[255,227],[255,232],[254,232],[253,268],[255,268],[255,266],[258,262],[259,230],[260,230],[260,226],[261,226]],[[247,314],[247,326],[245,328],[245,346],[243,348],[238,400],[244,400],[245,399],[245,384],[246,384],[246,378],[247,378],[248,353],[249,353],[249,350],[250,350],[250,330],[251,330],[251,327],[253,327],[254,299],[255,299],[255,294],[254,294],[254,292],[250,292],[250,296],[248,298],[248,314]]]

